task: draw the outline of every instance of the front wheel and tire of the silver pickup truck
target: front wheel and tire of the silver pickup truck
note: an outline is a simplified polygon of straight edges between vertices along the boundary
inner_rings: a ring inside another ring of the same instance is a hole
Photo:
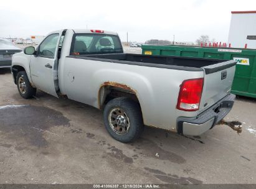
[[[17,89],[23,98],[29,99],[36,95],[36,88],[31,86],[26,71],[19,71],[16,76]]]

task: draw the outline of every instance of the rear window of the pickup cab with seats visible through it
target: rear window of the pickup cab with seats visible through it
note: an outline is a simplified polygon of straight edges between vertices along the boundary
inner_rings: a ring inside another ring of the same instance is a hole
[[[107,34],[75,34],[70,55],[88,55],[102,53],[123,53],[117,35]]]

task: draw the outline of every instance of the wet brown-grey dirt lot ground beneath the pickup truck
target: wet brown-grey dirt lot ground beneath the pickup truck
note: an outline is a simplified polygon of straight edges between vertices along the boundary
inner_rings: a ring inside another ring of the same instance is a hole
[[[255,111],[254,99],[236,99],[227,118],[243,122],[240,136],[227,126],[201,137],[146,127],[122,144],[98,109],[41,91],[22,99],[0,70],[0,183],[256,183]]]

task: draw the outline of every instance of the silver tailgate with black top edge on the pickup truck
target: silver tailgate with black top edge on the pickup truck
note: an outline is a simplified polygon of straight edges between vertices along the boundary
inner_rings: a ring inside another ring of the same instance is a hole
[[[204,69],[204,88],[199,113],[230,93],[236,63],[234,60],[224,60],[221,63],[202,67]]]

